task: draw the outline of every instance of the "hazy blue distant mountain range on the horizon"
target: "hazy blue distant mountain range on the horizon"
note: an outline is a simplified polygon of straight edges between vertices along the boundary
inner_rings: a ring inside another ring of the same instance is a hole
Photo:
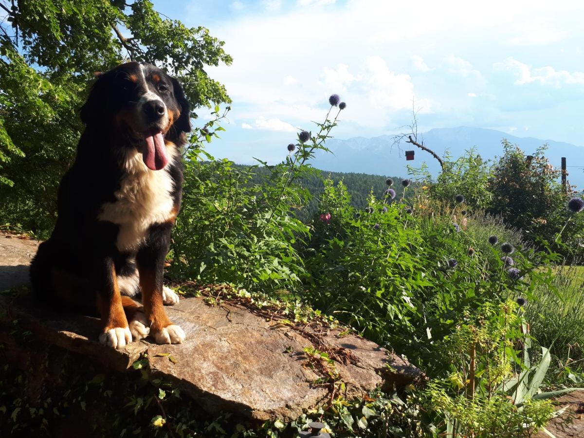
[[[538,147],[548,144],[547,157],[554,166],[561,165],[561,157],[566,157],[568,181],[584,188],[584,147],[554,140],[541,140],[533,137],[515,137],[502,131],[484,128],[458,127],[435,128],[422,134],[424,144],[441,157],[449,151],[451,157],[463,155],[475,147],[484,159],[500,157],[503,153],[501,140],[506,138],[519,145],[526,154],[535,152]],[[407,173],[406,164],[419,167],[426,162],[433,175],[439,172],[438,162],[427,152],[402,142],[398,150],[393,146],[392,135],[365,138],[354,137],[347,140],[332,138],[326,145],[335,155],[319,151],[312,165],[318,169],[335,172],[363,172],[374,175],[400,175]],[[415,159],[406,161],[405,150],[415,150]],[[580,167],[571,167],[580,166]]]

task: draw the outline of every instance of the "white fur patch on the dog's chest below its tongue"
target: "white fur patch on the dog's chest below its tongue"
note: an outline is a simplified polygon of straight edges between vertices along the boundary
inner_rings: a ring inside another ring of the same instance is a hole
[[[121,180],[120,189],[114,193],[116,201],[103,204],[98,217],[99,220],[120,225],[116,241],[120,251],[136,251],[151,225],[171,218],[174,185],[168,169],[175,154],[172,153],[174,151],[168,152],[169,163],[159,171],[148,169],[140,152],[127,154],[124,164],[127,173]]]

